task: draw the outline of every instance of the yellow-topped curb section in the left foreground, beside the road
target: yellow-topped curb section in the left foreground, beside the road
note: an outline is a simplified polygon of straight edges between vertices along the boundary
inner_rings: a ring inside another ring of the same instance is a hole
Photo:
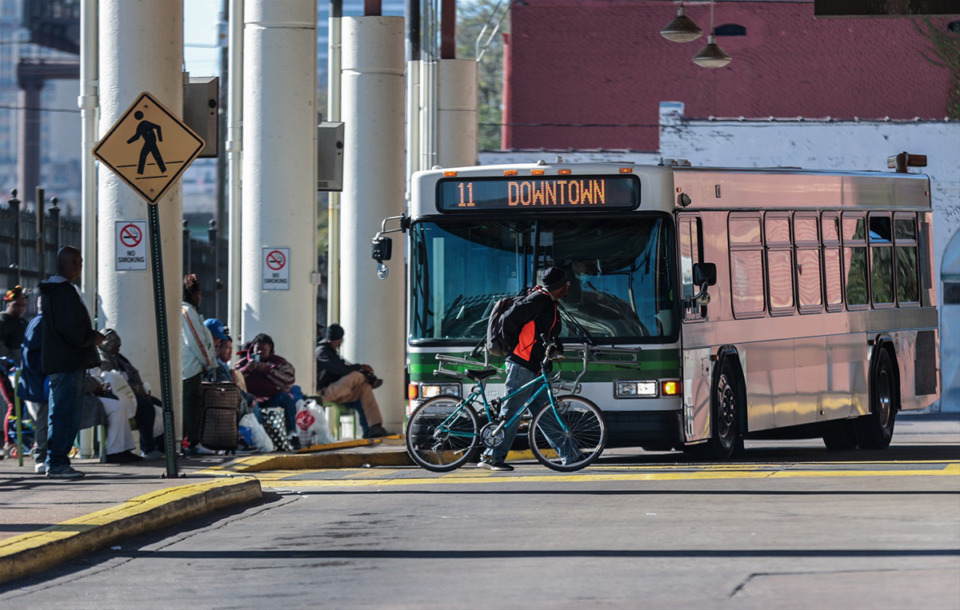
[[[0,582],[21,578],[109,544],[262,497],[260,482],[231,477],[168,487],[42,530],[0,540]]]

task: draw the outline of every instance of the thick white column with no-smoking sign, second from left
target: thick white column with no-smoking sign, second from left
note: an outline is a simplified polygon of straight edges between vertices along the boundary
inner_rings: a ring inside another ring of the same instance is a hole
[[[247,0],[243,53],[242,340],[270,335],[310,393],[317,323],[316,1]],[[273,251],[279,254],[268,265]]]

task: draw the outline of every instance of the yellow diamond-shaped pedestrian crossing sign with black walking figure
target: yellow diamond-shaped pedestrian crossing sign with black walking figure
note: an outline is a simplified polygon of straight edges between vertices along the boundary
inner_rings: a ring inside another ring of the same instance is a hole
[[[147,92],[97,143],[93,156],[156,204],[206,144]]]

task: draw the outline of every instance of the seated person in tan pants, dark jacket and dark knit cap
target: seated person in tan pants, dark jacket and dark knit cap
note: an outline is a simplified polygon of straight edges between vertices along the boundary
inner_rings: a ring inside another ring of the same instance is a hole
[[[381,438],[390,436],[383,427],[380,405],[373,395],[373,389],[383,384],[377,379],[373,368],[366,364],[347,364],[337,350],[343,345],[343,327],[331,324],[324,331],[324,338],[317,345],[317,391],[324,402],[349,403],[359,400],[369,426],[364,430],[363,438]]]

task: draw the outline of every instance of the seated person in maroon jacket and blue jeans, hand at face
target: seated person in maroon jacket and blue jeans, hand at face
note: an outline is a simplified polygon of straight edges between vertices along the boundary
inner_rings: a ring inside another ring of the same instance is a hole
[[[297,401],[290,390],[296,381],[293,365],[274,352],[273,339],[260,333],[250,342],[250,349],[240,354],[236,368],[243,373],[247,391],[259,407],[283,407],[287,438],[299,448],[297,435]]]

